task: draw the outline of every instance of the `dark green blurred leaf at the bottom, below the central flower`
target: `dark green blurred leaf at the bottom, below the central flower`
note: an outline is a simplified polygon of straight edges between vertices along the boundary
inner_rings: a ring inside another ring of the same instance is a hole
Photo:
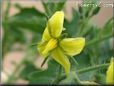
[[[58,74],[58,63],[54,60],[48,62],[48,69],[36,71],[30,74],[29,81],[32,84],[51,84]]]

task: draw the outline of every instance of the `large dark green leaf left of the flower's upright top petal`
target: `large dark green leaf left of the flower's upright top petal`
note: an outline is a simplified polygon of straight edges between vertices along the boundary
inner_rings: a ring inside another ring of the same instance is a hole
[[[34,7],[22,8],[19,13],[9,18],[9,25],[18,29],[23,28],[42,33],[46,25],[46,17],[44,13]]]

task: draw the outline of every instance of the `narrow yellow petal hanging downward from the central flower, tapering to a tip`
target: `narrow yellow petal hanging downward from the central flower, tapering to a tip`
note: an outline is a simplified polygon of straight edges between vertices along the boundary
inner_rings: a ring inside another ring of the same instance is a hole
[[[70,62],[67,56],[65,56],[61,49],[58,47],[53,50],[51,55],[53,59],[55,59],[59,64],[64,67],[66,75],[68,75],[70,72]]]

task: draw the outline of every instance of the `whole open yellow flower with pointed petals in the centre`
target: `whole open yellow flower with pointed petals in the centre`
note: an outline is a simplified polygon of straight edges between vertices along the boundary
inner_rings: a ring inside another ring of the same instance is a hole
[[[61,64],[66,74],[70,72],[70,62],[68,56],[79,54],[85,45],[85,39],[78,38],[61,38],[64,22],[64,12],[57,11],[47,22],[44,30],[42,41],[38,44],[38,51],[44,57],[49,55]]]

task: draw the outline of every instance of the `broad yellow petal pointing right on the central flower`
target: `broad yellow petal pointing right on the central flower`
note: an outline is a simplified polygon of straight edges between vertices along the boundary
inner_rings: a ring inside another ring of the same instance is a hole
[[[85,46],[85,38],[66,38],[60,41],[60,46],[66,54],[77,55]]]

